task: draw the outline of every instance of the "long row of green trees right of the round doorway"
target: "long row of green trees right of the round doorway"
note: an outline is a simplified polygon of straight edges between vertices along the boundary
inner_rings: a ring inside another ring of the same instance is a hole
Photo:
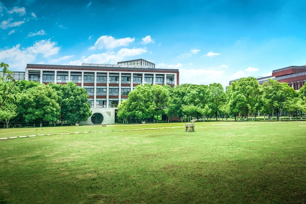
[[[259,85],[254,77],[241,78],[224,90],[219,83],[207,85],[183,84],[173,88],[165,85],[138,85],[126,101],[118,106],[117,117],[123,122],[131,119],[146,120],[165,114],[168,122],[175,116],[193,117],[245,117],[256,118],[261,113],[270,120],[282,113],[292,117],[306,113],[306,85],[299,92],[287,83],[273,79]],[[158,117],[156,117],[158,118]]]

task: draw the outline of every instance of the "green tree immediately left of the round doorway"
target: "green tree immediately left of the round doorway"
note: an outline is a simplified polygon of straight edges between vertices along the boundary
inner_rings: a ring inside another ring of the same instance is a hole
[[[91,115],[88,94],[84,88],[78,87],[73,82],[62,84],[48,84],[57,91],[57,102],[61,107],[62,124],[63,120],[70,123],[86,121]]]

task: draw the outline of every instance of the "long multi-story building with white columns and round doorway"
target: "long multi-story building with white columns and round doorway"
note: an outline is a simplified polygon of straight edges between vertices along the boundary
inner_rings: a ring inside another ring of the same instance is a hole
[[[92,115],[84,124],[115,123],[118,104],[128,98],[139,84],[175,86],[179,84],[178,69],[155,68],[143,59],[118,62],[117,65],[82,64],[37,65],[27,64],[24,79],[41,84],[74,82],[87,90]]]

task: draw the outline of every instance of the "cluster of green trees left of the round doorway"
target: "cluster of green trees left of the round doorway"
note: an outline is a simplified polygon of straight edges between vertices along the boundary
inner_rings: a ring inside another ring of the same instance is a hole
[[[69,82],[40,84],[34,81],[16,81],[1,63],[0,76],[0,121],[6,127],[12,120],[19,125],[61,121],[61,124],[86,121],[91,115],[88,94],[84,88]]]

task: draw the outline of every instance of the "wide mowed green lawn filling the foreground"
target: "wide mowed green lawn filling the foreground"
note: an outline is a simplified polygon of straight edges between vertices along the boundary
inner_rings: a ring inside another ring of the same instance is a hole
[[[306,122],[184,125],[1,129],[0,204],[306,203]]]

